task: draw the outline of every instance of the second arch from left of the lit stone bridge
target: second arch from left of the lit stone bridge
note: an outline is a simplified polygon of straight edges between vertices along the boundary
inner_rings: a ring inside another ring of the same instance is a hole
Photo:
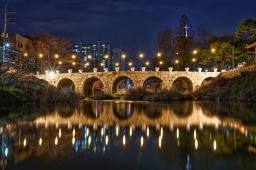
[[[99,76],[92,76],[83,82],[82,88],[84,96],[92,97],[95,94],[104,94],[106,82]]]

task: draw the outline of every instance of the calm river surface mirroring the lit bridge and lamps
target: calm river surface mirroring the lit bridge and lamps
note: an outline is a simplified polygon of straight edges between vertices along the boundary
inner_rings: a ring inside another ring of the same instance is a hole
[[[33,169],[24,162],[36,160],[37,169],[103,169],[108,160],[111,169],[255,169],[247,149],[256,146],[255,111],[233,103],[124,101],[20,108],[1,118],[1,167]]]

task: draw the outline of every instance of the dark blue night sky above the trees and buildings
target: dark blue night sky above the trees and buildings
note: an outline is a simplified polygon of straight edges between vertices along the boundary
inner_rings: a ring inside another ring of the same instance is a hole
[[[255,0],[0,0],[1,29],[4,3],[18,11],[9,33],[51,31],[73,43],[101,39],[127,50],[153,50],[156,34],[175,27],[184,13],[194,27],[205,24],[216,34],[234,33],[242,20],[256,17]]]

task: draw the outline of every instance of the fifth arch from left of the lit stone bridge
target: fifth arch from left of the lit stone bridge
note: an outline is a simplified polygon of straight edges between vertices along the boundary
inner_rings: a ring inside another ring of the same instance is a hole
[[[172,78],[173,89],[181,93],[193,92],[195,89],[196,81],[189,75],[176,75]]]

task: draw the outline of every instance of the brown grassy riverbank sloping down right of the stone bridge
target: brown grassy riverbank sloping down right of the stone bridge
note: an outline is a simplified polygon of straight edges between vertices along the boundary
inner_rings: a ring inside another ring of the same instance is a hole
[[[256,101],[256,71],[237,71],[237,76],[218,77],[200,87],[192,96],[197,100]]]

